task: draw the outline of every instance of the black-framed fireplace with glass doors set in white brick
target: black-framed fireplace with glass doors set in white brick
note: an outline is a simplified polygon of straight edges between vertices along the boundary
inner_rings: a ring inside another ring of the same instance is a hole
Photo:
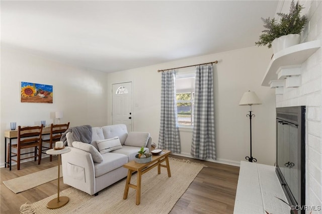
[[[289,204],[305,205],[305,106],[276,108],[276,133],[277,176]]]

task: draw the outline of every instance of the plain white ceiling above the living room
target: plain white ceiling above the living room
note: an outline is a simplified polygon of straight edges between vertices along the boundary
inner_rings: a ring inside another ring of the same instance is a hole
[[[278,1],[1,1],[1,44],[115,72],[254,46]]]

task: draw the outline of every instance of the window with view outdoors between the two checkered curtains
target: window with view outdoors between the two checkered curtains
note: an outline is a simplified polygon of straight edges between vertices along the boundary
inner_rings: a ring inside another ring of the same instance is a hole
[[[195,74],[176,77],[177,117],[180,126],[193,126]]]

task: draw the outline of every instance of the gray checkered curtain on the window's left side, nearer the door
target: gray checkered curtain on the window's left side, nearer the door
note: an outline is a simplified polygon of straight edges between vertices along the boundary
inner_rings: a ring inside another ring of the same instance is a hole
[[[158,148],[180,153],[180,136],[177,118],[175,70],[164,71],[161,81],[161,118]]]

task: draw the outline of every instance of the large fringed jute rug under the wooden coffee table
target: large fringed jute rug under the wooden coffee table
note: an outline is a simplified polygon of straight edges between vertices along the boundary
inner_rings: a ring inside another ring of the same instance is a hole
[[[32,204],[25,203],[20,207],[21,213],[169,213],[179,198],[187,190],[204,167],[169,158],[171,177],[167,169],[162,167],[157,174],[157,167],[142,175],[141,203],[135,205],[136,190],[129,189],[127,199],[123,199],[126,179],[111,185],[99,192],[98,196],[89,195],[70,187],[60,192],[60,196],[68,196],[69,202],[57,209],[48,209],[47,203],[57,194]],[[132,175],[132,184],[136,184],[136,173]]]

